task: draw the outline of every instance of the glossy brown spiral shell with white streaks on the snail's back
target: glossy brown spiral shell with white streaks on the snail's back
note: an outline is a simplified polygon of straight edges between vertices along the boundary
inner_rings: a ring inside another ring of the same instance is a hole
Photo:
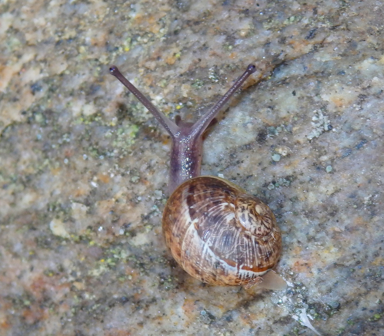
[[[212,285],[252,284],[280,257],[280,229],[270,208],[219,177],[179,185],[164,209],[162,230],[177,263]]]

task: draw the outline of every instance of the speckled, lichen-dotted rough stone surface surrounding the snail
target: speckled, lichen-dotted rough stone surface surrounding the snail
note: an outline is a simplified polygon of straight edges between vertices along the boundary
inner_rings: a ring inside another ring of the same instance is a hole
[[[0,335],[315,335],[305,309],[323,336],[382,336],[383,6],[1,0]],[[108,73],[196,120],[249,63],[202,172],[270,205],[286,292],[175,264],[170,140]]]

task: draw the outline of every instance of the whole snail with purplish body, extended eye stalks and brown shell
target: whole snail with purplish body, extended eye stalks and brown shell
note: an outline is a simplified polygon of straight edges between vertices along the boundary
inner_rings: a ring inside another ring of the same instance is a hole
[[[162,231],[172,256],[193,277],[212,285],[259,284],[285,289],[271,269],[281,252],[281,233],[270,208],[237,185],[215,176],[200,176],[202,134],[220,109],[256,71],[250,64],[214,107],[195,123],[180,116],[171,121],[118,70],[114,75],[152,113],[172,138],[170,197]]]

